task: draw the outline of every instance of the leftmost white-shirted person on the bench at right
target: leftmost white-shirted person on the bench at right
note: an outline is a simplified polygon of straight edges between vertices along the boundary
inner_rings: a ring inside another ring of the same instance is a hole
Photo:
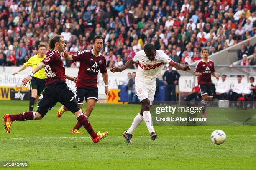
[[[230,89],[230,84],[226,81],[226,77],[226,75],[222,75],[221,80],[217,82],[216,95],[220,100],[225,100]]]

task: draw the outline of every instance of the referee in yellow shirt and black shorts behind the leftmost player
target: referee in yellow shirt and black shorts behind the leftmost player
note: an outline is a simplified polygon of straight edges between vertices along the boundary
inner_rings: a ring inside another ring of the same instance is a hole
[[[26,67],[32,66],[32,70],[40,64],[42,60],[46,57],[45,52],[46,52],[47,46],[45,44],[39,44],[38,45],[38,54],[30,57],[28,59],[28,62],[25,62],[23,66],[20,67],[19,70],[13,72],[13,75],[18,74],[18,72],[25,70]],[[38,98],[40,97],[41,93],[44,90],[45,87],[45,79],[46,79],[46,74],[44,71],[44,68],[36,72],[32,80],[29,82],[30,83],[30,90],[31,90],[31,98],[29,102],[29,111],[33,111],[34,105],[38,101]]]

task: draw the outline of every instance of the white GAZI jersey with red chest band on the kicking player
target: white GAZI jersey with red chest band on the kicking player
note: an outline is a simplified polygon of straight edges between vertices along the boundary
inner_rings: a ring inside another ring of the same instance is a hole
[[[165,54],[163,50],[156,50],[156,57],[154,61],[148,60],[144,50],[136,53],[133,61],[139,64],[136,72],[135,82],[153,83],[156,77],[161,73],[164,64],[169,64],[172,59]]]

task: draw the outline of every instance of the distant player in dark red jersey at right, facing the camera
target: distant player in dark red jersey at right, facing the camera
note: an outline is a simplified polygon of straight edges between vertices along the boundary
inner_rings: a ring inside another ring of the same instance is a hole
[[[207,101],[211,101],[213,98],[213,89],[212,89],[212,77],[213,75],[217,80],[219,80],[219,76],[215,74],[214,63],[212,60],[208,59],[209,50],[202,50],[203,58],[200,62],[197,63],[195,67],[195,76],[198,76],[198,84],[201,91],[202,96],[202,115],[206,117],[206,104]]]

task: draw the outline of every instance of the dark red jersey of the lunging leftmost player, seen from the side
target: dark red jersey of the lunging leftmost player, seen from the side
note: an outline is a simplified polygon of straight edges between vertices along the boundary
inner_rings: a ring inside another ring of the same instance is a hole
[[[59,52],[56,50],[49,50],[42,62],[46,65],[44,68],[46,73],[46,85],[58,80],[66,81],[65,67]]]

